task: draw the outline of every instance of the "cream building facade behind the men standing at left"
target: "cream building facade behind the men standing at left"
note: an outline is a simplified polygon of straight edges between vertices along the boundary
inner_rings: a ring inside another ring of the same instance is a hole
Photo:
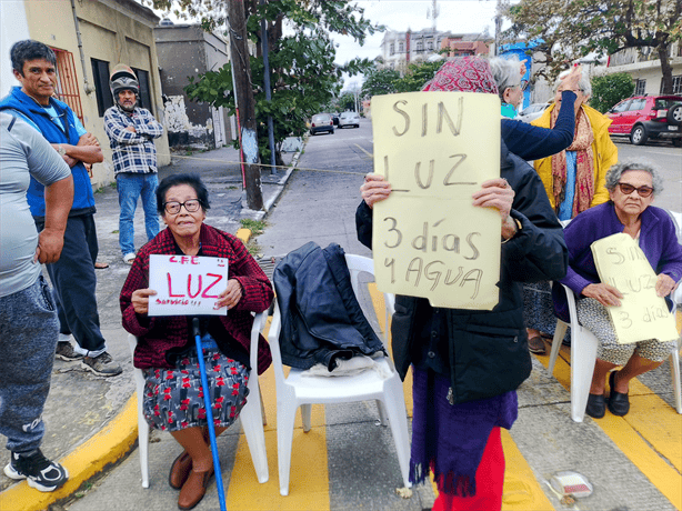
[[[57,54],[59,98],[80,118],[86,129],[102,146],[104,162],[92,168],[92,186],[113,181],[113,164],[103,116],[113,104],[109,72],[118,63],[130,66],[140,81],[140,101],[163,122],[163,102],[153,28],[159,18],[134,0],[0,1],[2,23],[0,39],[0,94],[4,96],[14,79],[9,61],[11,46],[34,39]],[[154,141],[159,166],[170,163],[168,137]]]

